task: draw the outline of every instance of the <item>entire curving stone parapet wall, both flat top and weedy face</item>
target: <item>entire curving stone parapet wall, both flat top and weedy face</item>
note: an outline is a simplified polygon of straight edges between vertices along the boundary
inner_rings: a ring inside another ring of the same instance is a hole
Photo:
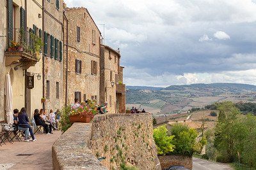
[[[97,115],[90,124],[73,124],[54,143],[53,169],[119,169],[124,162],[161,169],[152,134],[150,113]]]

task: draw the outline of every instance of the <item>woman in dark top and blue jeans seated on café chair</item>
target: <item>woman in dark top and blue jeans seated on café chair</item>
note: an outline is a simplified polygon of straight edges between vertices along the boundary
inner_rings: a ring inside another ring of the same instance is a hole
[[[28,115],[27,115],[26,112],[27,112],[27,111],[26,111],[26,108],[21,108],[20,113],[18,114],[18,120],[19,120],[19,122],[18,122],[18,128],[19,128],[19,127],[28,128],[29,133],[30,133],[30,135],[31,135],[31,137],[32,137],[32,141],[37,141],[37,140],[35,139],[33,130],[32,130],[32,128],[31,128],[31,126],[29,125]]]

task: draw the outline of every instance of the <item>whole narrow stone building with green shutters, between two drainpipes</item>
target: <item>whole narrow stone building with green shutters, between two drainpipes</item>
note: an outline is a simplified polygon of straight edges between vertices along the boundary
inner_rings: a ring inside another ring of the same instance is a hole
[[[54,3],[52,3],[54,2]],[[45,110],[63,106],[63,0],[44,1]]]

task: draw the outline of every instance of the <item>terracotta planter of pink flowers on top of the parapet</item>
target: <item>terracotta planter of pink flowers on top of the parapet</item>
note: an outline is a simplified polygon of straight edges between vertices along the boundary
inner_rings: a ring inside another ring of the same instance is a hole
[[[81,103],[80,106],[71,106],[69,119],[71,123],[74,122],[91,122],[94,115],[97,114],[97,107],[93,101]]]

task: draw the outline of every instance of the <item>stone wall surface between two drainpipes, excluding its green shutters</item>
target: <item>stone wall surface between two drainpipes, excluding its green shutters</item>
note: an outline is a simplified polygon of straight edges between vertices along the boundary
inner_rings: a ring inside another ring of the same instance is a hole
[[[63,0],[60,0],[60,9],[56,9],[56,3],[44,1],[44,31],[48,34],[47,52],[44,52],[45,57],[45,86],[44,96],[47,96],[47,80],[50,82],[50,96],[45,101],[45,110],[49,113],[50,110],[56,111],[63,106],[63,60],[60,60],[60,52],[58,52],[58,59],[51,58],[51,40],[50,37],[58,39],[62,42],[62,56],[63,56]],[[44,32],[43,32],[44,33]],[[44,34],[43,34],[44,35]],[[60,46],[60,43],[58,43]],[[60,49],[60,48],[59,48]],[[63,57],[62,57],[63,59]],[[59,98],[56,95],[57,82],[59,83]]]

